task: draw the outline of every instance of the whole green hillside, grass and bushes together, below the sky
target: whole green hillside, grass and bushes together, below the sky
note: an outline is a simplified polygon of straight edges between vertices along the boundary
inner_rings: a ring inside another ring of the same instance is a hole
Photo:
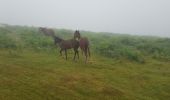
[[[72,50],[67,61],[59,56],[36,27],[0,27],[0,100],[169,100],[169,38],[81,33],[91,43],[87,64]]]

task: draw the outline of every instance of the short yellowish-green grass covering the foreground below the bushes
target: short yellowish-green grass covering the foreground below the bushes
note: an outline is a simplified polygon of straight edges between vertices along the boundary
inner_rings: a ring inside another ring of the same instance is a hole
[[[0,50],[1,100],[168,100],[170,62],[94,55],[89,64],[58,52]]]

